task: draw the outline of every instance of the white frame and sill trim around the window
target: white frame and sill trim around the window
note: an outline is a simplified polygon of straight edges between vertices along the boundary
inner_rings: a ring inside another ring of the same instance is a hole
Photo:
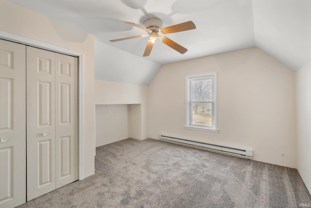
[[[206,126],[200,127],[199,125],[190,125],[190,115],[189,115],[189,101],[190,101],[190,92],[189,92],[189,79],[192,78],[200,78],[203,76],[214,76],[214,86],[213,86],[213,91],[214,91],[214,127],[213,128],[208,128]],[[199,131],[207,131],[207,132],[214,132],[218,133],[219,130],[217,129],[217,73],[206,73],[206,74],[196,74],[196,75],[190,75],[186,76],[186,124],[185,124],[185,129],[190,129],[190,130],[199,130]]]

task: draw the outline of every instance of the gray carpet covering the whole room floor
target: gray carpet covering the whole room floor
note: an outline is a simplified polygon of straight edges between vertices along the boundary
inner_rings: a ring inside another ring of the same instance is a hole
[[[96,173],[19,208],[294,208],[311,203],[296,169],[125,139],[96,148]]]

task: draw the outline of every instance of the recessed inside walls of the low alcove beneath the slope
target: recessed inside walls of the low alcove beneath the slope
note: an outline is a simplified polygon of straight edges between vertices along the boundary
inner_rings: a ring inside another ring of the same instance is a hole
[[[133,138],[142,139],[141,104],[95,105],[96,147]]]

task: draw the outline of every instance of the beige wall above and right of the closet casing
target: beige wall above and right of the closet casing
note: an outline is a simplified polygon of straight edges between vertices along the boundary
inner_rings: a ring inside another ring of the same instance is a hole
[[[0,0],[0,30],[84,54],[84,174],[94,174],[94,36],[6,0]]]

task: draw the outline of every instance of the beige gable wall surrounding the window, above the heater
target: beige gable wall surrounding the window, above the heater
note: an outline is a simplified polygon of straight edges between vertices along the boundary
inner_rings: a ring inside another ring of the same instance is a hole
[[[219,133],[184,129],[186,76],[208,72],[217,72]],[[255,160],[295,167],[294,72],[258,48],[164,65],[148,89],[150,138],[252,149]]]

